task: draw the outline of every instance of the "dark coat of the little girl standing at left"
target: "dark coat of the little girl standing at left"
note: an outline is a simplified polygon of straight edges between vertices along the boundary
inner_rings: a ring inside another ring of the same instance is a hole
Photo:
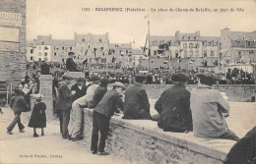
[[[46,105],[43,102],[35,102],[32,109],[32,116],[28,127],[45,128],[46,127]]]

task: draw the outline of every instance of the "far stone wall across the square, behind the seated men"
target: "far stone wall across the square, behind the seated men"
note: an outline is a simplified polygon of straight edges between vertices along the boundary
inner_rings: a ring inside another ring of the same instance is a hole
[[[158,99],[160,94],[172,84],[144,84],[149,98]],[[196,85],[189,84],[188,89],[191,91]],[[219,84],[215,86],[218,90],[225,92],[228,96],[228,101],[246,102],[250,101],[252,96],[255,96],[255,84]]]

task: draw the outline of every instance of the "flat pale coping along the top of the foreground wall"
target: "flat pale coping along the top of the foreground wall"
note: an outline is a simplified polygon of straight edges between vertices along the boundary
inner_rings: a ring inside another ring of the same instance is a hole
[[[84,108],[84,113],[93,115],[94,109]],[[156,137],[171,144],[189,149],[200,154],[224,161],[232,145],[236,142],[229,139],[194,137],[193,132],[188,134],[163,132],[158,123],[152,120],[125,120],[122,115],[114,115],[110,123],[121,127]]]

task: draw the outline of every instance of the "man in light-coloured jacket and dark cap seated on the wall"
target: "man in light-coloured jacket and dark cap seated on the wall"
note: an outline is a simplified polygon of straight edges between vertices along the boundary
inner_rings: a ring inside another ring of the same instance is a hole
[[[194,136],[238,140],[224,120],[229,113],[228,101],[211,88],[218,81],[217,77],[212,74],[198,74],[197,77],[201,84],[192,89],[190,98]]]

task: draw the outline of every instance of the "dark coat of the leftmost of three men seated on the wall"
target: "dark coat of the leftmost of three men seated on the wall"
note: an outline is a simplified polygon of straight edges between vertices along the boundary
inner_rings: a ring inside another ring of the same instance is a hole
[[[125,91],[123,119],[152,119],[150,102],[142,84],[135,83]]]

